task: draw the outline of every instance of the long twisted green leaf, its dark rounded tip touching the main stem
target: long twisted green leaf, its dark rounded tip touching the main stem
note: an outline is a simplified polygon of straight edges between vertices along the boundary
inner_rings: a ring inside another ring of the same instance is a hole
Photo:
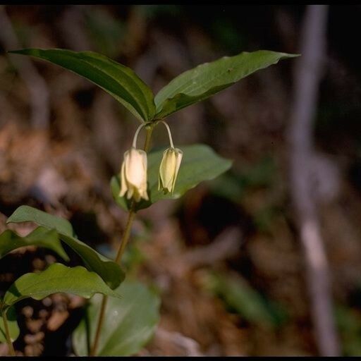
[[[73,227],[66,219],[29,206],[20,206],[11,214],[6,223],[29,221],[48,229],[56,229],[59,232],[59,238],[82,257],[87,269],[97,272],[112,289],[118,287],[123,281],[124,272],[121,267],[75,238]]]

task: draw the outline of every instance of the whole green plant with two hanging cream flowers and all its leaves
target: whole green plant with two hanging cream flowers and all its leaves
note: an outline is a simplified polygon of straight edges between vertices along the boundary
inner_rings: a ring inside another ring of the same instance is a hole
[[[132,147],[123,156],[120,172],[111,179],[114,200],[128,212],[126,228],[114,260],[80,241],[66,219],[28,206],[19,207],[8,218],[8,223],[32,221],[38,227],[25,237],[11,230],[2,233],[0,257],[19,247],[36,245],[53,250],[67,262],[65,243],[81,257],[84,267],[55,263],[40,273],[20,276],[0,300],[0,341],[7,342],[10,353],[15,354],[12,343],[19,334],[16,302],[24,298],[41,300],[51,293],[74,293],[91,298],[73,334],[75,353],[135,354],[149,341],[157,326],[160,302],[154,291],[139,282],[124,281],[125,271],[120,262],[135,214],[159,200],[176,199],[198,183],[215,178],[231,167],[231,161],[220,157],[207,145],[174,147],[171,130],[164,119],[255,71],[295,55],[255,51],[224,57],[178,75],[154,97],[152,90],[133,70],[101,54],[65,49],[12,52],[50,61],[82,75],[111,94],[141,124],[135,131]],[[170,147],[149,153],[152,132],[160,123],[166,126]],[[138,149],[137,136],[142,129],[146,130],[145,145]],[[96,293],[102,296],[94,295]],[[119,310],[124,312],[119,315]]]

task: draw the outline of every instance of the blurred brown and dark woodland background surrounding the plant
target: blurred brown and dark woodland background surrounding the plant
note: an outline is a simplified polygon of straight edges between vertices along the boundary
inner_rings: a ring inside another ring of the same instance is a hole
[[[29,204],[112,257],[126,212],[109,181],[138,125],[91,82],[6,51],[97,51],[154,93],[224,55],[302,53],[169,118],[177,147],[205,143],[233,167],[138,214],[125,262],[161,295],[159,329],[140,355],[360,355],[360,16],[360,6],[313,20],[305,6],[1,6],[0,231]],[[166,144],[155,132],[153,145]],[[0,289],[55,260],[8,255]],[[82,302],[19,302],[19,354],[71,353]]]

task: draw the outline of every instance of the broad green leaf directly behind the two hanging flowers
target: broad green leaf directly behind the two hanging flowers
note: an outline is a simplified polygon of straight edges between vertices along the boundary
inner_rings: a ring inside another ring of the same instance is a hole
[[[164,194],[158,190],[158,173],[161,157],[164,149],[151,152],[148,156],[148,196],[149,201],[140,201],[136,209],[147,208],[159,200],[176,199],[181,197],[187,190],[194,188],[202,181],[216,178],[231,168],[232,161],[220,157],[207,145],[185,145],[180,146],[183,150],[181,168],[178,172],[176,187],[173,194]],[[124,197],[119,197],[121,180],[119,176],[111,179],[111,191],[117,204],[123,209],[129,209],[130,202]]]

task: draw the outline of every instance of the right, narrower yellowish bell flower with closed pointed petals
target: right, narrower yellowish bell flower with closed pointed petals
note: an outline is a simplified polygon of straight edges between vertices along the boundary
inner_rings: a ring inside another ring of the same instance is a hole
[[[182,157],[181,149],[170,147],[164,151],[159,167],[158,190],[162,188],[164,193],[173,193]]]

